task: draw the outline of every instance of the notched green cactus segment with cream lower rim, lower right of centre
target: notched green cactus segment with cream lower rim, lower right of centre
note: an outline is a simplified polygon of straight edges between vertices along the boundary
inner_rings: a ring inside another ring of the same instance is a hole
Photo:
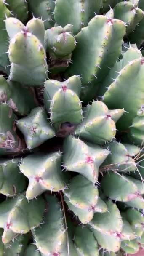
[[[118,237],[122,232],[123,221],[117,206],[111,201],[107,201],[108,211],[106,213],[95,213],[91,227],[105,235]]]

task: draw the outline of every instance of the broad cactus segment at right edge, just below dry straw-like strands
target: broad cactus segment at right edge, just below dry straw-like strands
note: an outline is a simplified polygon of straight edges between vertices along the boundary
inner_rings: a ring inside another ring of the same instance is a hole
[[[114,172],[109,172],[104,176],[101,187],[104,195],[121,202],[131,202],[131,200],[141,198],[141,195],[144,194],[144,186],[141,181],[130,176],[119,176]]]

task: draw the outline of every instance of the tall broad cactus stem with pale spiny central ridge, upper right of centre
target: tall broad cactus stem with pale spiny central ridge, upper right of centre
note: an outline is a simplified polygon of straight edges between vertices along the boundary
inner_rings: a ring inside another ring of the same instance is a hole
[[[95,16],[75,37],[77,46],[66,76],[82,75],[82,100],[90,101],[99,83],[120,56],[125,24],[107,16]],[[86,42],[86,43],[85,43]],[[111,47],[113,45],[113,47]]]

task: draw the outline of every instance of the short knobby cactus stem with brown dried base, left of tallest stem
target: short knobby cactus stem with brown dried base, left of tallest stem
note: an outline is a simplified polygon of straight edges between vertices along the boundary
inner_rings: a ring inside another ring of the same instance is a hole
[[[53,74],[64,72],[69,66],[76,46],[72,30],[72,25],[67,24],[64,28],[58,26],[45,31],[45,48],[50,54],[49,70]]]

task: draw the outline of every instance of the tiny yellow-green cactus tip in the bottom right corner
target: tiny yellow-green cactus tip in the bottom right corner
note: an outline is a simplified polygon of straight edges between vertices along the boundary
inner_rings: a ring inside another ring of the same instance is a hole
[[[125,253],[135,254],[139,251],[139,245],[136,240],[125,240],[121,243],[121,248]]]

